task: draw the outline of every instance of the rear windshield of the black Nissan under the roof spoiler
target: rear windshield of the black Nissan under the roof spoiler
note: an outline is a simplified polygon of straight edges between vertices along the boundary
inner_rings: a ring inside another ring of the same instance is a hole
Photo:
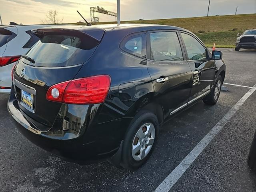
[[[35,63],[22,58],[22,61],[32,66],[61,67],[72,66],[86,62],[93,54],[99,41],[82,34],[45,35],[26,54]]]

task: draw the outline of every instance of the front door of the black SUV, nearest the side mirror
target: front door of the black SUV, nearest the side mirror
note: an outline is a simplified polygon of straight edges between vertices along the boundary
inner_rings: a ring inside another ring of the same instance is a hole
[[[181,32],[184,50],[193,73],[191,94],[188,104],[210,92],[214,83],[216,66],[211,60],[206,47],[192,34]]]

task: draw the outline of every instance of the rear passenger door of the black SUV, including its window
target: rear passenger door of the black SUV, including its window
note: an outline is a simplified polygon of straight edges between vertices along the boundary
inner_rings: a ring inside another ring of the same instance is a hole
[[[177,31],[152,31],[147,33],[147,38],[148,72],[156,100],[167,117],[187,105],[192,72]]]

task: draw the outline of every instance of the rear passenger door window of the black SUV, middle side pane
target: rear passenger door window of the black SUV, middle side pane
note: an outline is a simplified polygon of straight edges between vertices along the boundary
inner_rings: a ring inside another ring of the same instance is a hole
[[[176,32],[150,33],[151,59],[156,61],[183,60]]]

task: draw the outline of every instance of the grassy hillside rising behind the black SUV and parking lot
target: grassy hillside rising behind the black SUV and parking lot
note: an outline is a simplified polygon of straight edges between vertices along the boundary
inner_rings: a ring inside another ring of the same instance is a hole
[[[111,24],[116,22],[99,22],[95,24]],[[234,47],[236,34],[246,29],[256,28],[256,14],[224,15],[209,17],[157,19],[142,21],[122,21],[121,23],[145,23],[172,25],[188,29],[207,45],[216,43],[218,47]]]

